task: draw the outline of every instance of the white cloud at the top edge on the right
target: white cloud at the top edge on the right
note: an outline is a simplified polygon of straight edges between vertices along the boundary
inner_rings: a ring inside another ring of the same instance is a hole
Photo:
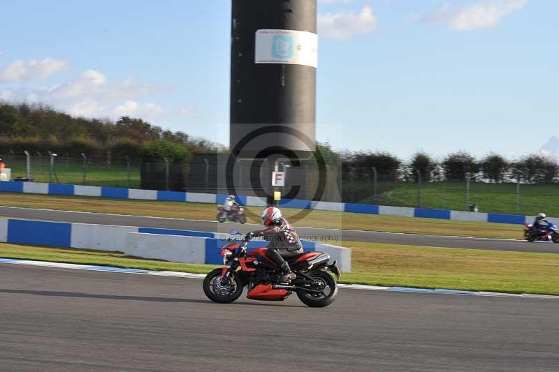
[[[416,19],[422,22],[448,24],[456,31],[470,31],[495,27],[503,17],[521,10],[528,0],[492,0],[461,8],[448,3],[441,10]]]

